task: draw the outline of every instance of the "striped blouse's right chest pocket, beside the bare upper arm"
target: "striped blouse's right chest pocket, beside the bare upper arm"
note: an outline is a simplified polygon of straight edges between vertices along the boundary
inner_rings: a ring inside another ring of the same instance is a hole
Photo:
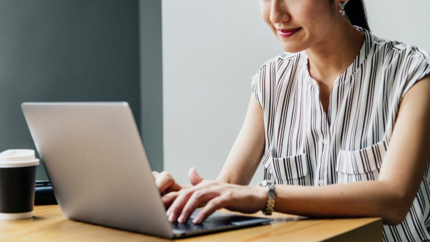
[[[388,145],[384,140],[360,150],[340,150],[336,162],[337,183],[377,180]]]

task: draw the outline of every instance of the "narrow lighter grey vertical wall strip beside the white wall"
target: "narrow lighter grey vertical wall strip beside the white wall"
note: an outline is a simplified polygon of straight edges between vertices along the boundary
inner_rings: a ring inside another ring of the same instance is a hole
[[[161,1],[140,0],[142,137],[153,170],[163,170]]]

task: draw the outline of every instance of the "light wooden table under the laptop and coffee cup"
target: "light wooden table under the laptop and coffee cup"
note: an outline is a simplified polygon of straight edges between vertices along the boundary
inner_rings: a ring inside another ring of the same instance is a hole
[[[265,217],[261,213],[255,216]],[[380,241],[380,218],[306,219],[275,213],[276,223],[178,241]],[[66,219],[58,206],[36,206],[32,219],[0,220],[0,241],[169,241]]]

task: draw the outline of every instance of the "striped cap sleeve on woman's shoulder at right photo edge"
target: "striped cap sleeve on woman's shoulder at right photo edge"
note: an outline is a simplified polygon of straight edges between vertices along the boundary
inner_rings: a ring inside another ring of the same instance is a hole
[[[405,55],[404,63],[405,71],[402,73],[402,79],[405,83],[402,85],[401,99],[419,80],[430,74],[430,54],[412,47],[410,52]]]

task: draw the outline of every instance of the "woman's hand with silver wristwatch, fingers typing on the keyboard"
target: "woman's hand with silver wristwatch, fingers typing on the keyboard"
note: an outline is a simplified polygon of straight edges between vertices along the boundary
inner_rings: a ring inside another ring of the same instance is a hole
[[[190,173],[197,172],[192,169]],[[268,189],[259,185],[241,186],[221,181],[203,180],[199,184],[182,189],[167,210],[170,222],[184,223],[198,207],[205,206],[194,223],[200,223],[217,209],[226,208],[242,213],[255,213],[266,206]]]

